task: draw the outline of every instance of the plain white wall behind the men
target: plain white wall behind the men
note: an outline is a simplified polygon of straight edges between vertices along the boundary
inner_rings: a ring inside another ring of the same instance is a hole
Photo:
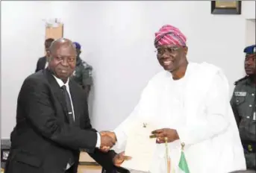
[[[90,96],[95,128],[111,130],[133,110],[147,81],[160,71],[154,32],[172,24],[188,39],[189,60],[224,69],[231,89],[243,76],[245,16],[212,15],[210,1],[2,1],[1,138],[15,125],[22,81],[43,55],[42,19],[60,18],[64,36],[81,43],[94,67]],[[15,69],[15,71],[13,71]]]

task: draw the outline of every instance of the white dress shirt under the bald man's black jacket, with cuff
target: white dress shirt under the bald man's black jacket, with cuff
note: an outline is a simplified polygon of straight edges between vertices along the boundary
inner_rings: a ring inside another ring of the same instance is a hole
[[[57,78],[56,76],[53,75],[53,77],[55,78],[55,80],[57,81],[57,84],[59,84],[60,87],[63,87],[63,85],[66,86],[66,91],[69,93],[69,98],[71,101],[71,107],[72,107],[72,112],[73,112],[73,118],[75,120],[75,111],[74,111],[74,107],[73,107],[73,102],[72,102],[72,98],[71,98],[71,94],[70,94],[70,90],[69,90],[69,78],[68,81],[66,81],[66,84],[63,83],[63,81],[61,81],[60,78]],[[100,148],[101,146],[101,135],[99,134],[99,132],[97,132],[97,142],[96,142],[96,148]],[[67,163],[66,169],[69,169],[71,166],[69,165],[69,163]]]

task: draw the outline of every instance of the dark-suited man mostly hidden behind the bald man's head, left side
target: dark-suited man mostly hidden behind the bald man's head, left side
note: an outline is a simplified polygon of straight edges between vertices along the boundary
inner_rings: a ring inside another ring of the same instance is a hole
[[[51,43],[54,41],[54,39],[46,39],[45,41],[45,50],[46,50],[46,56],[44,57],[40,57],[38,60],[37,60],[37,69],[36,69],[36,72],[40,71],[41,69],[46,69],[47,66],[48,66],[48,58],[49,57],[49,48],[51,46]]]

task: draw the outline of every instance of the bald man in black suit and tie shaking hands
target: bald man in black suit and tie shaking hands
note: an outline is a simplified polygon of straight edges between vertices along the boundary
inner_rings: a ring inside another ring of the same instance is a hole
[[[111,172],[117,155],[104,148],[115,140],[92,128],[85,92],[69,80],[72,42],[54,41],[49,55],[49,67],[28,76],[19,92],[5,173],[75,173],[81,150]]]

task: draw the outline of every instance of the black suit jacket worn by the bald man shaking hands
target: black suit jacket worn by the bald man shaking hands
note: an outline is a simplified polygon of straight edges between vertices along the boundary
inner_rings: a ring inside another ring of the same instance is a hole
[[[87,97],[83,89],[69,81],[75,112],[70,126],[66,104],[49,69],[28,76],[19,92],[16,127],[10,135],[11,148],[6,173],[62,173],[71,156],[77,172],[79,151],[87,149],[102,167],[111,171],[115,153],[102,153],[96,147],[96,130],[90,125]]]

